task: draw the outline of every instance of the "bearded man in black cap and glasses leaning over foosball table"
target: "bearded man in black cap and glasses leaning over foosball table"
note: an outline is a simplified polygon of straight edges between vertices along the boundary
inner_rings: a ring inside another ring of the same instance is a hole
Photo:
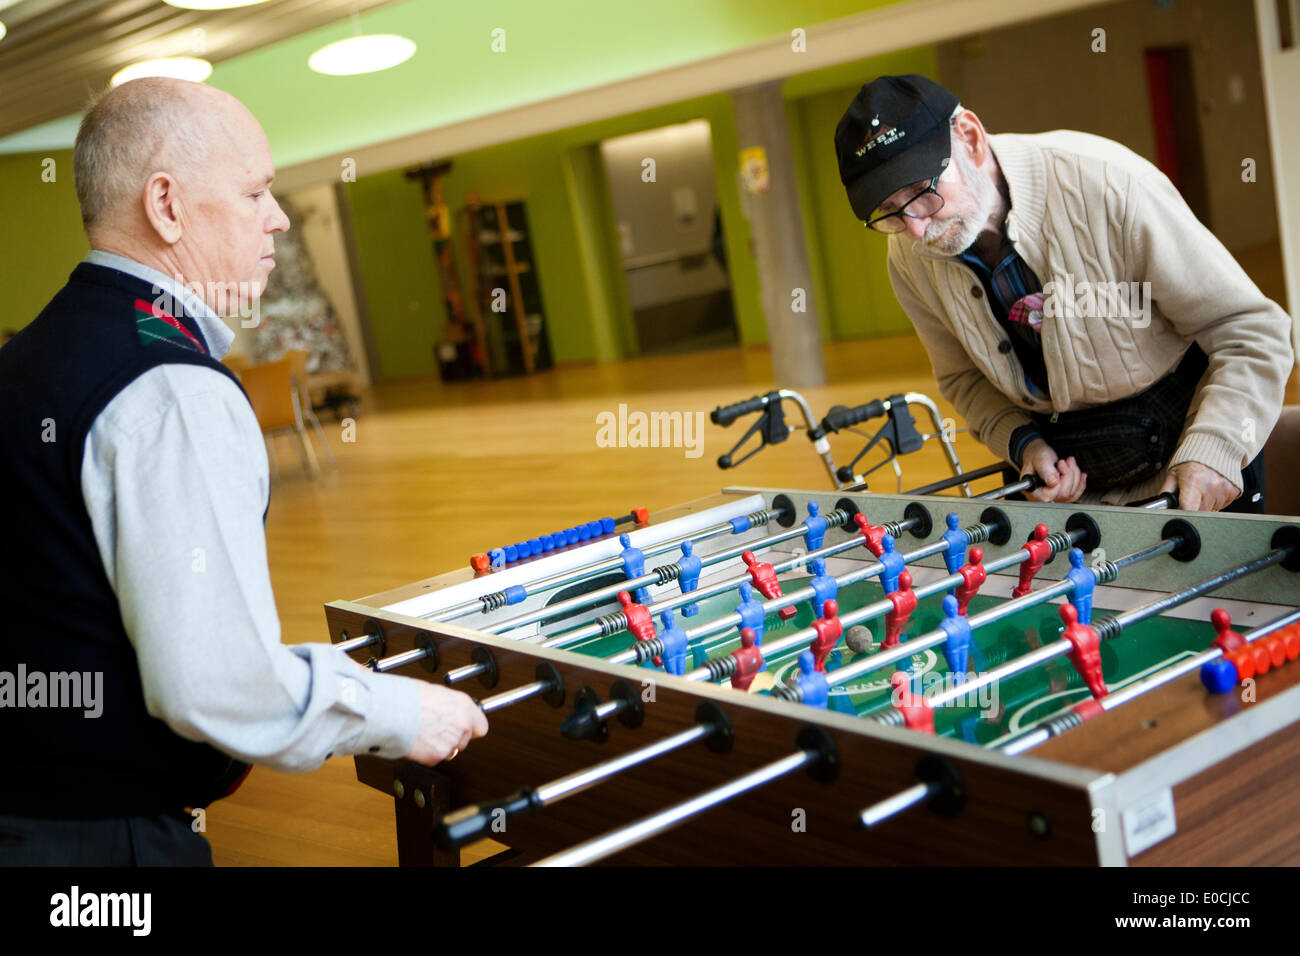
[[[1291,319],[1158,169],[1086,133],[989,135],[919,75],[863,86],[835,146],[940,392],[1031,497],[1264,510]]]

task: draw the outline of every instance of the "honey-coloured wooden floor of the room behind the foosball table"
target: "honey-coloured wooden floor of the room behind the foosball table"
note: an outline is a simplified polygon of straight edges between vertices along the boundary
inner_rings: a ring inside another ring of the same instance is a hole
[[[805,393],[818,416],[835,403],[907,390],[939,401],[914,337],[841,342],[824,352],[831,384]],[[324,486],[302,477],[294,450],[278,440],[285,479],[272,493],[266,533],[283,640],[324,640],[326,601],[463,567],[474,551],[578,520],[641,505],[654,514],[729,484],[829,488],[798,432],[738,470],[718,470],[718,455],[741,427],[718,428],[708,411],[771,388],[770,356],[758,347],[569,367],[526,380],[376,389],[355,442],[343,444],[339,427],[326,424],[339,467]],[[1290,394],[1300,398],[1295,381]],[[616,415],[620,402],[628,411],[703,412],[698,455],[601,447],[597,416]],[[992,460],[968,436],[957,441],[967,468]],[[852,436],[836,438],[837,459],[859,446]],[[905,488],[949,473],[937,444],[902,466]],[[896,490],[892,473],[878,475],[875,488]],[[356,782],[351,758],[304,775],[255,770],[234,797],[209,808],[207,836],[218,865],[396,862],[393,801]]]

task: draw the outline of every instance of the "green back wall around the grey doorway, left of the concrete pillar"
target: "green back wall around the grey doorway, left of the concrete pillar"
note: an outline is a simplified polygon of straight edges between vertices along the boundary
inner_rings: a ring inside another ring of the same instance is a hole
[[[621,276],[615,273],[616,285],[611,281],[611,273],[621,271],[621,264],[612,246],[612,216],[603,170],[599,157],[593,160],[592,147],[611,137],[694,118],[707,120],[712,129],[714,168],[720,185],[719,204],[741,338],[762,342],[767,333],[758,302],[758,274],[749,252],[749,224],[741,215],[736,189],[738,144],[729,96],[705,96],[452,157],[451,173],[443,181],[443,194],[452,209],[464,206],[471,193],[484,202],[524,199],[528,203],[534,264],[556,362],[608,360],[634,354],[636,336],[625,291],[616,287],[621,285]],[[654,185],[647,183],[646,189]],[[380,345],[384,375],[396,375],[390,368],[402,368],[402,375],[432,372],[432,343],[445,321],[445,311],[437,294],[433,251],[422,233],[420,189],[406,181],[402,172],[394,172],[358,177],[351,190],[354,216],[359,224],[367,224],[364,230],[359,225],[358,245],[363,251],[363,281],[376,337],[400,342],[393,347],[410,352],[390,356]],[[412,216],[421,222],[419,248],[398,250],[398,245],[412,235]],[[377,243],[377,250],[367,251],[369,242]],[[456,252],[468,295],[464,248],[458,245]],[[398,258],[415,272],[403,277],[399,269],[391,268],[390,263]],[[407,285],[419,294],[407,295]],[[408,320],[413,324],[413,315],[393,308],[377,310],[377,295],[419,299],[419,325],[425,336],[419,347],[412,347],[408,338],[391,328],[384,328]],[[422,363],[422,368],[412,368],[413,363]]]

